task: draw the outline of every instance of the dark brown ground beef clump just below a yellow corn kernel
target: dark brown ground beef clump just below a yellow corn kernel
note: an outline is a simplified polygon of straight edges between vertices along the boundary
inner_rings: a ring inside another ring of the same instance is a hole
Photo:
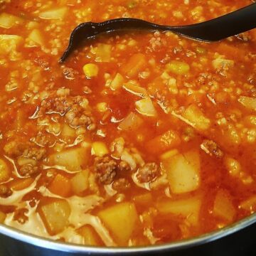
[[[100,183],[105,185],[112,183],[117,175],[117,169],[117,162],[109,156],[97,157],[95,159],[94,170]]]

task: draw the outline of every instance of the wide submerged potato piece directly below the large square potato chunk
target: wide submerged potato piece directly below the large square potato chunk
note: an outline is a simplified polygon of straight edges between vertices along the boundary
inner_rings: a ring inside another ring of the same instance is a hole
[[[198,225],[201,203],[201,198],[198,196],[175,201],[166,199],[156,203],[156,208],[160,213],[181,215],[191,225]]]

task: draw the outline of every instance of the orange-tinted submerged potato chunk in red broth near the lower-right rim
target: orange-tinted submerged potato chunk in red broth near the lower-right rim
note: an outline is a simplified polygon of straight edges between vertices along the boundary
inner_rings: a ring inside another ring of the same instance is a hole
[[[228,191],[219,190],[214,201],[213,215],[231,223],[235,217],[235,212]]]

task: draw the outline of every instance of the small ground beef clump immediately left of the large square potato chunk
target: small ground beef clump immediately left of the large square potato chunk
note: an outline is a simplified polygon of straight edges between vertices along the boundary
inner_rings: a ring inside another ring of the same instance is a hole
[[[159,176],[159,174],[160,174],[159,166],[157,166],[157,164],[155,163],[148,163],[148,164],[144,164],[144,166],[138,169],[137,178],[139,182],[145,183],[145,182],[154,181],[154,179],[157,176]]]

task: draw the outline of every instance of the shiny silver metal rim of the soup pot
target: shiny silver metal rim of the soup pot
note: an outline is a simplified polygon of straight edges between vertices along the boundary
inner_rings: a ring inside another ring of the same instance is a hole
[[[180,240],[177,242],[170,242],[164,245],[148,245],[143,247],[90,247],[85,245],[75,245],[68,242],[59,242],[50,240],[48,238],[41,238],[38,235],[31,235],[21,230],[8,227],[6,225],[0,225],[0,234],[6,235],[9,238],[14,238],[21,242],[26,242],[30,245],[43,247],[50,250],[57,250],[60,252],[73,252],[73,253],[88,253],[90,254],[109,254],[109,253],[122,253],[122,254],[137,254],[139,252],[156,252],[156,251],[174,251],[180,249],[186,249],[195,245],[202,245],[214,240],[218,240],[227,235],[231,235],[243,228],[247,228],[249,225],[256,223],[256,213],[243,218],[231,225],[225,226],[210,233],[200,235],[194,238],[186,240]]]

